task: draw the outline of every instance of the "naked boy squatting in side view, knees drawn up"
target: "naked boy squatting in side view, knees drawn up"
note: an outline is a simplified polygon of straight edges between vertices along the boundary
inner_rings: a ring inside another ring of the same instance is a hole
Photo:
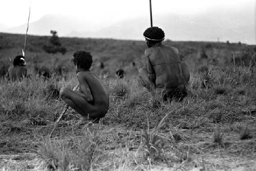
[[[103,83],[90,72],[92,55],[90,52],[77,51],[73,54],[79,90],[69,88],[60,90],[60,97],[81,116],[79,124],[86,123],[87,118],[99,120],[109,109],[109,95]]]

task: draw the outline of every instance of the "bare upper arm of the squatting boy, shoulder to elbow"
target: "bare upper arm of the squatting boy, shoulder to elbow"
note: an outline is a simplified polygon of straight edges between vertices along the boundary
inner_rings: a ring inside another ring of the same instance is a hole
[[[89,102],[93,101],[93,96],[86,81],[86,76],[83,73],[77,73],[77,78],[79,82],[79,90],[84,94],[84,98]]]

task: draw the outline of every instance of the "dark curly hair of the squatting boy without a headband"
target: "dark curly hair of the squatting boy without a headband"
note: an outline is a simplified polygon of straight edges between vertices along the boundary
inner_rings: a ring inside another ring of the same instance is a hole
[[[73,53],[74,64],[83,70],[89,70],[93,63],[93,57],[90,52],[81,50]]]

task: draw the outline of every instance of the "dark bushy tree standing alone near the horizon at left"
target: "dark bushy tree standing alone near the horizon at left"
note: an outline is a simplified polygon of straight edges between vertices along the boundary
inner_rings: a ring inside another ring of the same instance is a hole
[[[59,41],[59,37],[57,36],[57,31],[51,30],[50,33],[52,34],[49,44],[42,46],[42,49],[47,53],[58,53],[60,52],[62,55],[67,52],[65,47],[61,46],[61,42]]]

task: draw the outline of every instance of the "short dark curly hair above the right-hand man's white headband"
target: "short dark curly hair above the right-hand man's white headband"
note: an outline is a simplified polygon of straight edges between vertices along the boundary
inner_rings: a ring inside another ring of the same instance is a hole
[[[164,38],[164,32],[159,27],[150,27],[144,31],[143,36],[154,40],[162,40]]]

